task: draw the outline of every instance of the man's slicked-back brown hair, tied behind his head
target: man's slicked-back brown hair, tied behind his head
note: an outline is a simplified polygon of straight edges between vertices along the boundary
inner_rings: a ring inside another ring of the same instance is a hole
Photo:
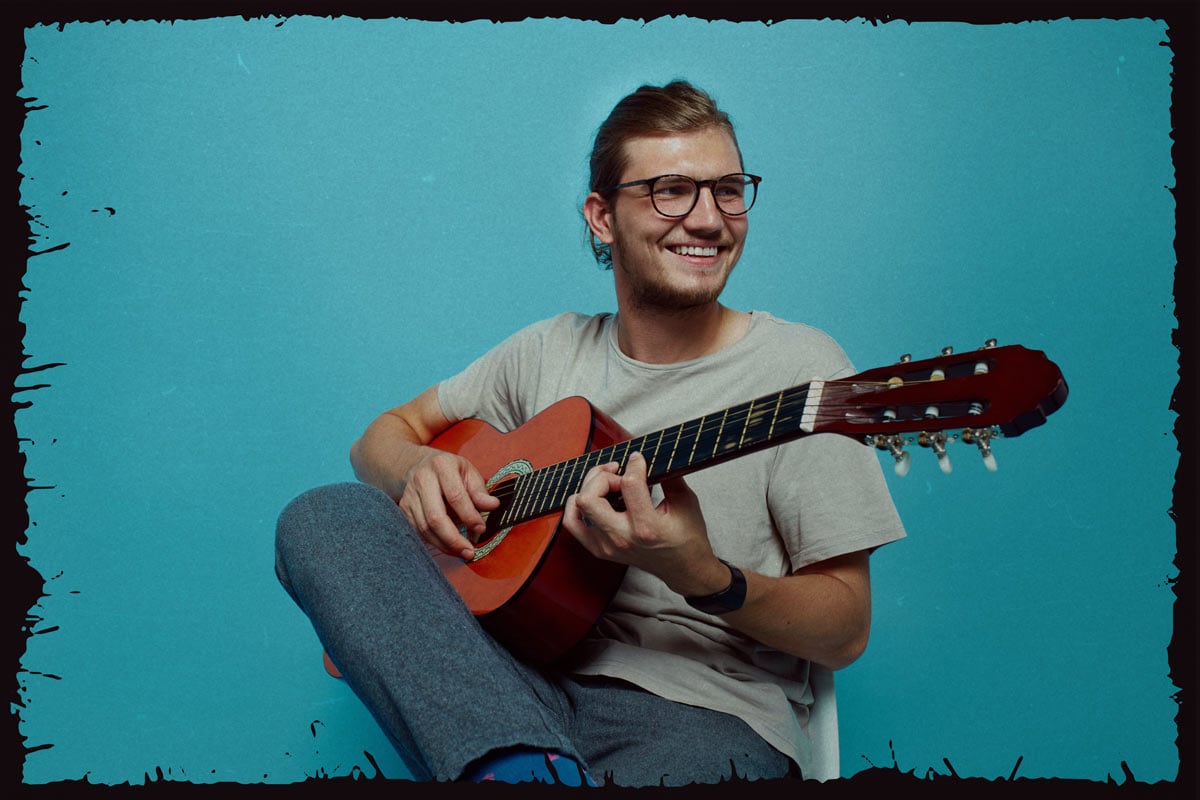
[[[626,144],[630,139],[664,133],[692,133],[704,128],[716,128],[728,134],[738,152],[740,169],[742,154],[733,124],[707,92],[684,80],[674,80],[665,86],[640,88],[618,102],[596,131],[588,190],[610,203],[616,200],[617,191],[611,187],[620,182],[629,166]],[[590,229],[588,241],[596,260],[611,266],[612,252]]]

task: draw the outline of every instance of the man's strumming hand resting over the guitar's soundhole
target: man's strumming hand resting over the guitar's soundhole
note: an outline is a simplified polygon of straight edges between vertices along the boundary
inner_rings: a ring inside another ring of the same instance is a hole
[[[475,546],[458,527],[481,535],[486,530],[484,512],[499,505],[469,461],[432,447],[409,470],[400,498],[400,510],[426,543],[464,560],[475,554]]]

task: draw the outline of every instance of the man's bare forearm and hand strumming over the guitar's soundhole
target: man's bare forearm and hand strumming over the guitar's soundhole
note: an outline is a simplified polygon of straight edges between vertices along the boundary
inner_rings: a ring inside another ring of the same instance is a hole
[[[428,446],[450,427],[437,386],[376,417],[350,447],[350,465],[364,483],[395,499],[422,540],[446,553],[469,558],[474,546],[458,522],[484,531],[481,511],[499,500],[467,459]]]

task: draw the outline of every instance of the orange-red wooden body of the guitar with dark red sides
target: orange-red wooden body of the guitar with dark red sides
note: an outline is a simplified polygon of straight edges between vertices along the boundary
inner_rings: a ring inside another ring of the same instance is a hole
[[[511,433],[463,420],[431,445],[474,464],[490,488],[518,475],[629,439],[582,397],[554,403]],[[487,631],[520,657],[547,663],[595,624],[625,575],[559,530],[562,510],[492,530],[475,560],[431,548],[445,577]]]

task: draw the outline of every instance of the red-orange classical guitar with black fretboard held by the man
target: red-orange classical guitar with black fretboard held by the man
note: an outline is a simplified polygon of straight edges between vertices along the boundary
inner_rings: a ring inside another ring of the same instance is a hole
[[[623,565],[592,557],[559,531],[566,499],[596,464],[641,451],[650,482],[686,475],[815,433],[888,451],[898,474],[906,445],[931,450],[949,470],[947,444],[973,444],[995,469],[992,440],[1045,422],[1067,398],[1058,367],[1020,345],[900,362],[839,380],[816,379],[640,437],[582,397],[554,403],[511,433],[464,420],[431,444],[490,476],[500,506],[487,516],[473,560],[431,549],[467,606],[518,656],[546,663],[577,643],[604,612]],[[952,432],[952,433],[947,433]],[[326,668],[337,674],[326,657]]]

